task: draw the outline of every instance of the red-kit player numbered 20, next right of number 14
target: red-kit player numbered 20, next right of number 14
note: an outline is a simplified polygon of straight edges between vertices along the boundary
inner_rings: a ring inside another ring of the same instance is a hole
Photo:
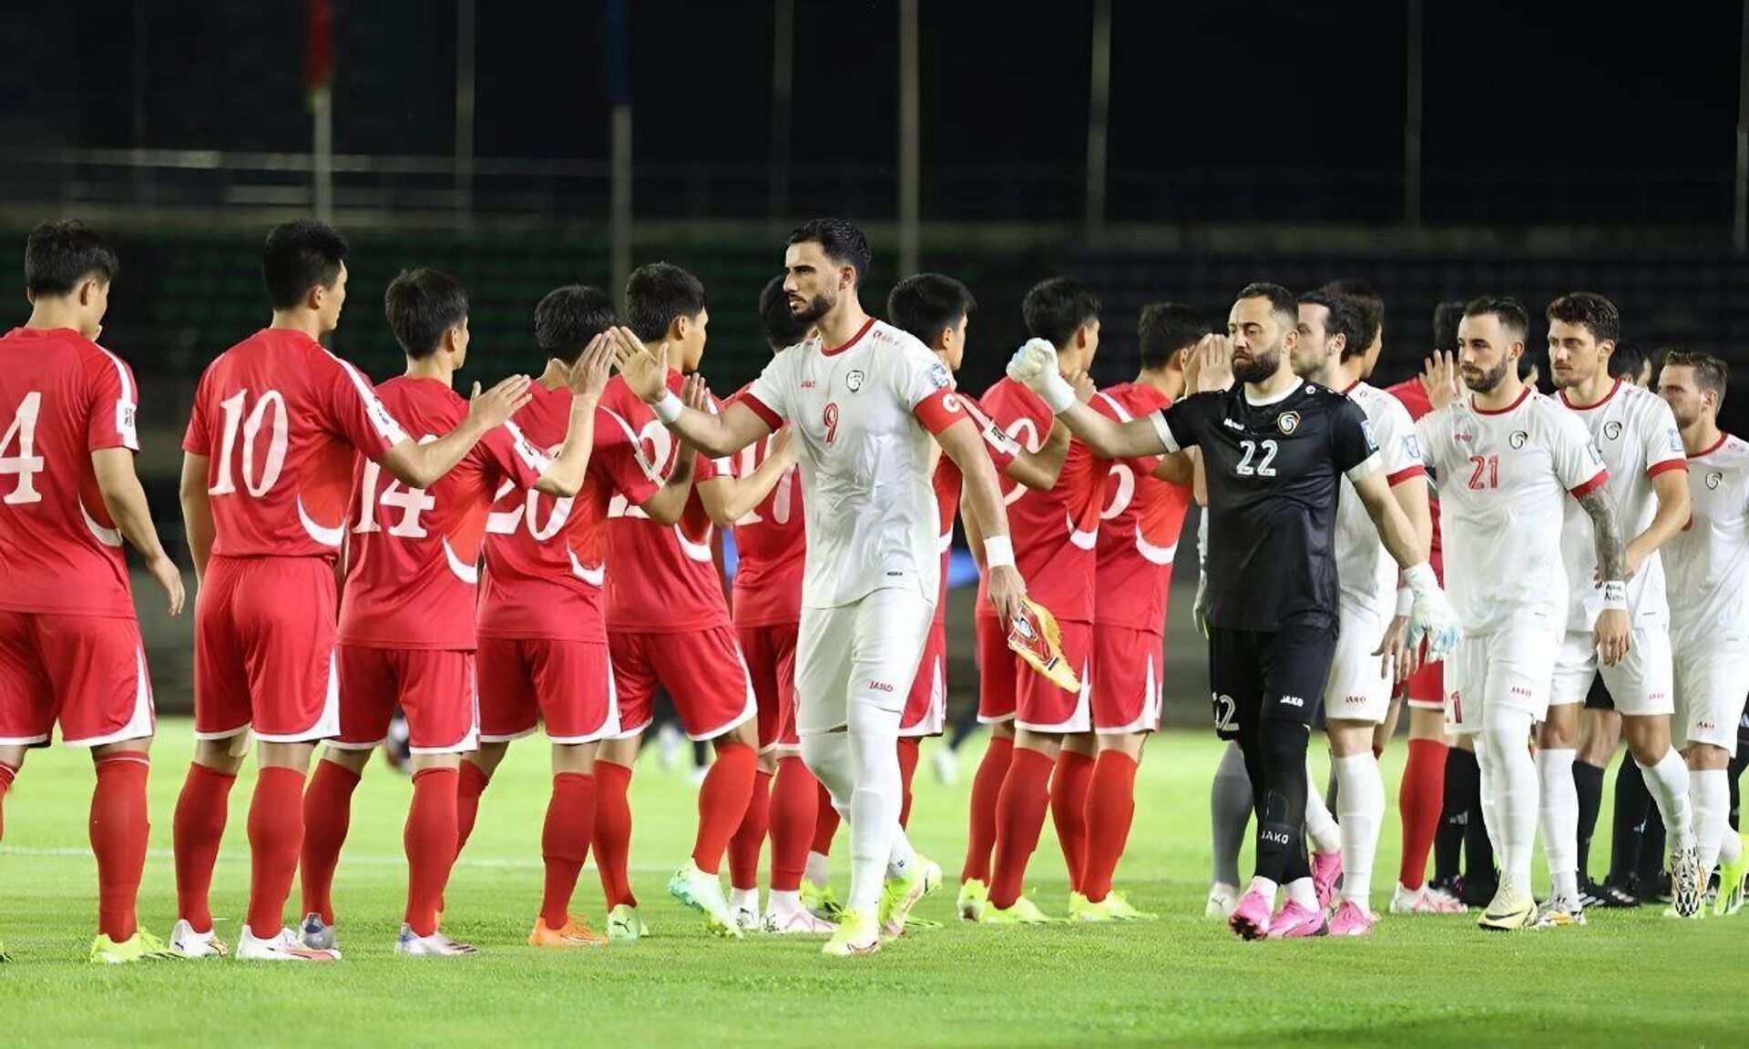
[[[535,448],[560,451],[577,407],[570,376],[614,320],[607,292],[586,285],[553,288],[535,306],[535,343],[547,362],[514,420]],[[535,948],[605,941],[572,916],[568,904],[591,837],[598,857],[607,848],[603,825],[626,829],[619,843],[630,837],[624,790],[610,790],[619,766],[596,761],[602,740],[619,731],[602,594],[610,575],[609,509],[626,500],[672,524],[693,490],[691,455],[679,456],[663,481],[645,467],[624,420],[600,402],[593,428],[589,469],[574,498],[500,486],[486,518],[484,591],[476,612],[479,750],[462,764],[458,839],[467,844],[479,797],[511,741],[540,724],[553,745],[553,794],[540,830],[540,916],[528,934]],[[609,799],[619,808],[609,811]]]

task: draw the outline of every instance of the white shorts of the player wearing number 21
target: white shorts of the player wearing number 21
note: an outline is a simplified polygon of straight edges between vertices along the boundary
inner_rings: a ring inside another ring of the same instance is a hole
[[[1551,615],[1527,612],[1511,626],[1466,635],[1445,657],[1445,722],[1460,734],[1480,733],[1488,710],[1548,717],[1550,682],[1560,633]]]

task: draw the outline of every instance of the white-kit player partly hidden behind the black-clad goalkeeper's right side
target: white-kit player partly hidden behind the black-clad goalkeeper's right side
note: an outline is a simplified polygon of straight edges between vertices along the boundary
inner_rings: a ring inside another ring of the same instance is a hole
[[[1378,358],[1378,341],[1368,337],[1361,308],[1345,295],[1300,295],[1300,339],[1293,369],[1303,379],[1343,393],[1366,414],[1385,483],[1417,544],[1429,544],[1427,469],[1415,444],[1408,409],[1364,381]],[[1415,654],[1401,652],[1401,635],[1415,594],[1397,589],[1396,565],[1378,538],[1364,504],[1350,495],[1336,505],[1336,577],[1340,615],[1336,652],[1324,685],[1324,717],[1331,766],[1336,773],[1336,822],[1341,827],[1341,906],[1329,920],[1331,935],[1373,932],[1371,881],[1378,827],[1385,818],[1385,782],[1373,752],[1375,731],[1390,713],[1390,692],[1406,677]],[[1380,649],[1378,638],[1389,638]],[[1401,652],[1403,666],[1396,666]]]

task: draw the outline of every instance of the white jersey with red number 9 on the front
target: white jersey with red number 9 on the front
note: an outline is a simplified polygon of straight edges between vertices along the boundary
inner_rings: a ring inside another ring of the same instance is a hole
[[[742,395],[798,439],[808,556],[805,608],[883,587],[936,601],[939,512],[930,434],[965,418],[946,365],[909,334],[869,320],[843,346],[813,337],[778,353]]]

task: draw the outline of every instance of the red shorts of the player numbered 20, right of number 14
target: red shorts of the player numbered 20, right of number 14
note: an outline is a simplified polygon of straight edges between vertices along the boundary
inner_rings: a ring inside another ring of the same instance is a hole
[[[518,740],[544,724],[554,743],[593,743],[619,731],[614,670],[602,642],[479,638],[479,738]]]

